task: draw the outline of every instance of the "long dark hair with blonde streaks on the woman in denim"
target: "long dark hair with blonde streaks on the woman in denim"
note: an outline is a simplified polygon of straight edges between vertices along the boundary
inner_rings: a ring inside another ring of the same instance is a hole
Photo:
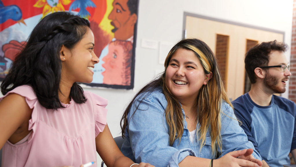
[[[168,105],[165,109],[165,117],[169,126],[170,145],[174,143],[176,138],[181,139],[184,130],[184,118],[181,106],[177,98],[170,92],[165,83],[165,72],[169,66],[170,59],[180,48],[191,50],[195,53],[203,66],[205,74],[210,74],[210,72],[213,73],[213,77],[207,82],[207,85],[202,85],[197,96],[197,106],[199,106],[197,110],[197,117],[200,124],[198,134],[201,146],[204,145],[206,133],[208,129],[210,129],[212,144],[211,147],[213,154],[215,154],[215,152],[217,152],[217,147],[220,149],[222,147],[220,134],[220,105],[222,101],[226,101],[226,103],[228,103],[230,106],[232,105],[227,98],[214,53],[205,42],[199,39],[183,39],[170,50],[168,56],[165,59],[165,71],[163,74],[144,86],[144,88],[142,88],[136,94],[123,113],[120,124],[121,134],[124,137],[125,133],[128,133],[127,116],[136,97],[143,92],[150,92],[160,87],[162,88],[163,94],[165,95],[165,98],[168,102]]]

